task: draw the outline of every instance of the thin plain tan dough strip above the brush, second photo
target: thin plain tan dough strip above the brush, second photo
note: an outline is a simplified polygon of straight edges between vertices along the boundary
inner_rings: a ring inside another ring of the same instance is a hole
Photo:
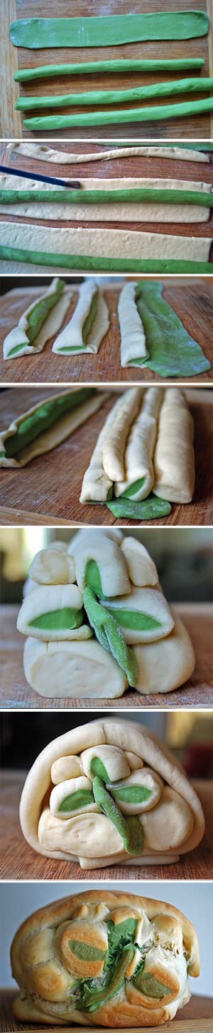
[[[111,151],[98,151],[93,154],[69,154],[67,151],[55,151],[45,144],[7,144],[6,151],[11,154],[17,151],[27,158],[34,161],[50,161],[57,165],[77,165],[84,161],[110,161],[111,158],[132,158],[143,156],[146,158],[179,158],[181,161],[209,161],[209,155],[202,154],[202,151],[184,151],[181,147],[119,147]]]

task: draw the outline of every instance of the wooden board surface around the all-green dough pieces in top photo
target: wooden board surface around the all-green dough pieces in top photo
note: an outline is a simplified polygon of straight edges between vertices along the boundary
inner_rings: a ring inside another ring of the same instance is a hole
[[[6,0],[3,0],[3,8]],[[34,0],[7,0],[9,18],[8,21],[14,19],[14,7],[16,8],[16,18],[33,18],[35,15],[35,2]],[[200,0],[199,2],[200,10],[207,10],[210,12],[211,0]],[[188,0],[164,0],[164,10],[187,10]],[[190,0],[190,8],[198,8],[198,0]],[[149,11],[161,11],[163,9],[163,0],[146,0],[146,3],[142,3],[141,0],[135,0],[134,3],[134,13],[138,13],[142,10]],[[122,0],[121,13],[130,12],[130,0]],[[94,10],[93,0],[72,0],[72,10],[70,8],[69,0],[60,0],[60,9],[58,0],[37,0],[36,2],[36,14],[42,18],[67,18],[70,14],[75,15],[93,15],[93,14],[120,14],[120,2],[119,0],[96,0],[96,9]],[[155,42],[139,42],[139,43],[126,43],[119,46],[101,46],[101,48],[60,48],[59,50],[36,50],[29,51],[25,48],[17,48],[16,58],[19,68],[35,68],[42,64],[61,64],[65,62],[81,62],[84,61],[97,61],[101,60],[111,60],[112,58],[132,58],[132,59],[144,59],[144,58],[182,58],[182,57],[202,57],[205,59],[205,65],[202,68],[202,76],[208,76],[210,74],[211,66],[211,51],[212,49],[212,28],[210,28],[209,34],[198,39],[187,39],[187,40],[171,40],[168,44],[167,40],[155,41]],[[7,107],[11,106],[11,100],[13,104],[13,87],[15,87],[16,99],[19,96],[42,96],[45,94],[63,94],[68,92],[80,93],[83,90],[98,90],[98,89],[130,89],[134,86],[147,85],[154,82],[166,82],[166,80],[174,80],[180,77],[186,77],[187,72],[162,72],[151,73],[134,73],[131,75],[129,72],[123,72],[119,75],[117,74],[99,74],[99,75],[60,75],[56,80],[41,80],[37,83],[29,82],[25,84],[25,87],[21,83],[12,84],[12,71],[13,71],[13,50],[8,41],[8,59],[7,66],[5,68],[4,74],[4,89],[7,92]],[[3,55],[4,59],[4,55]],[[8,79],[6,76],[6,70],[9,69],[9,62],[11,62],[11,70]],[[191,71],[193,74],[193,69]],[[201,99],[203,94],[198,92],[194,94],[194,99]],[[180,95],[179,100],[186,100],[187,95]],[[166,100],[167,102],[167,100]],[[152,105],[152,101],[149,101]],[[159,98],[159,103],[165,103],[165,98]],[[129,107],[130,104],[120,104],[120,107]],[[140,106],[140,104],[135,104],[134,106]],[[76,113],[80,112],[82,107],[76,108]],[[67,108],[67,113],[71,108]],[[58,108],[56,108],[56,113]],[[37,114],[39,114],[39,108]],[[22,128],[20,135],[28,136],[28,138],[36,138],[38,136],[37,132],[29,133],[29,130],[24,126],[24,117],[22,115]],[[8,119],[6,123],[4,121],[4,116],[2,117],[2,137],[7,135],[12,138],[13,133],[13,117],[11,109],[10,123],[8,125]],[[55,138],[62,138],[63,134],[67,138],[73,138],[76,136],[75,129],[55,130]],[[163,122],[145,122],[137,124],[137,131],[135,124],[127,123],[127,125],[112,125],[112,126],[95,126],[93,130],[90,127],[81,128],[77,131],[79,138],[88,138],[93,135],[94,138],[106,139],[108,136],[112,138],[122,138],[127,136],[133,138],[137,134],[140,138],[175,138],[178,135],[182,138],[190,139],[208,139],[211,135],[211,117],[209,113],[204,113],[200,116],[187,117],[183,119],[169,119],[163,120]],[[48,133],[50,136],[50,133]],[[39,133],[39,138],[45,138],[45,133]]]

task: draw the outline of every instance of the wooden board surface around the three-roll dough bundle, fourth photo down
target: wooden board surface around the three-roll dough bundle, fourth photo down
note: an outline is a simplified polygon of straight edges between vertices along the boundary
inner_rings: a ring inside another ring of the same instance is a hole
[[[99,388],[96,388],[97,390]],[[118,388],[118,390],[121,388]],[[172,504],[169,516],[161,524],[209,525],[212,521],[212,416],[213,396],[209,387],[188,387],[186,396],[194,418],[196,489],[193,500],[187,505]],[[1,395],[1,431],[11,419],[26,412],[32,405],[54,394],[52,388],[9,387]],[[109,387],[109,397],[97,413],[79,427],[57,448],[38,456],[26,467],[0,470],[0,524],[34,524],[34,518],[45,525],[57,522],[92,525],[119,525],[106,505],[79,503],[83,473],[105,417],[116,400],[116,390]],[[29,513],[29,516],[26,516]],[[153,527],[159,521],[148,522]],[[122,526],[137,525],[125,519]]]

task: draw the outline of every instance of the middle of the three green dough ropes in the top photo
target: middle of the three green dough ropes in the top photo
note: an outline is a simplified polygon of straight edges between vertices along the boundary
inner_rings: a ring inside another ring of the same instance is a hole
[[[151,97],[172,97],[177,93],[198,93],[213,89],[213,77],[181,79],[176,82],[137,86],[131,90],[88,90],[86,93],[65,93],[47,97],[19,97],[15,108],[32,112],[35,107],[77,107],[78,104],[122,104],[129,100],[148,100]]]

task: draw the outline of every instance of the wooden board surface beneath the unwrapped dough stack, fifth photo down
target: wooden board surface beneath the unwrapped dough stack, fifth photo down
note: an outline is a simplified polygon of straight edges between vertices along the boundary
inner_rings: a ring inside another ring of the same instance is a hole
[[[196,653],[196,669],[180,689],[174,692],[141,695],[128,689],[118,699],[49,699],[39,696],[26,682],[23,670],[24,637],[16,631],[17,606],[0,607],[0,707],[5,710],[129,710],[157,707],[212,707],[212,607],[209,604],[180,604],[175,609],[182,616]]]

